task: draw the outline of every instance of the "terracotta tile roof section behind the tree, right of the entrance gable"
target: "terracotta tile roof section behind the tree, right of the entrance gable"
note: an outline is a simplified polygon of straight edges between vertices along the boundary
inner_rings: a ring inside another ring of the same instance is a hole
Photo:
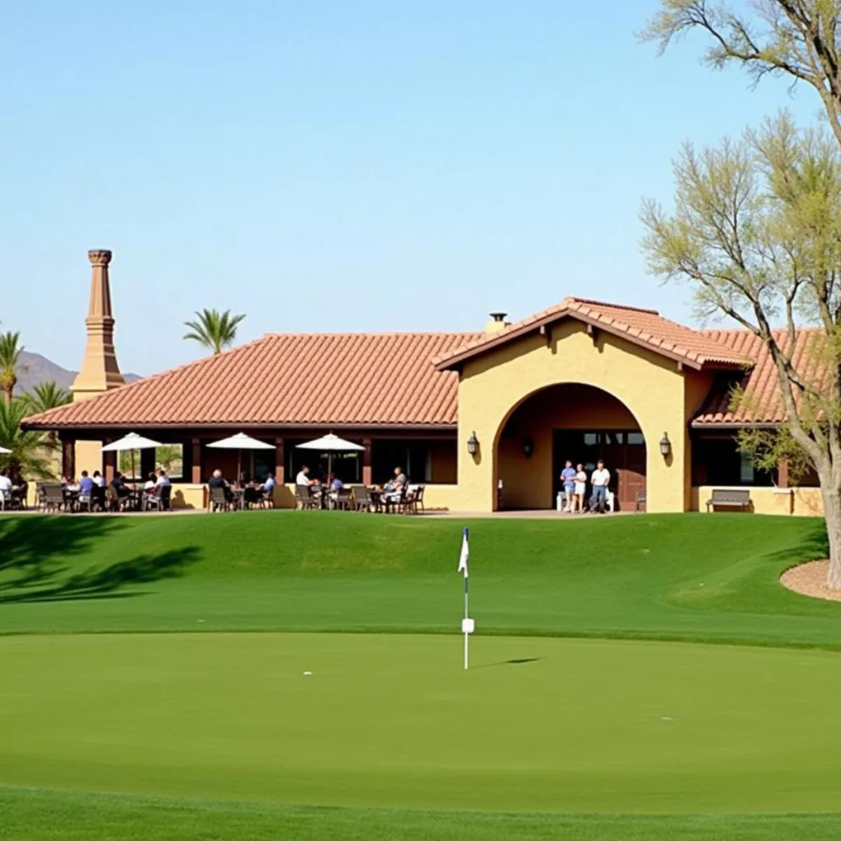
[[[705,330],[701,331],[713,341],[733,349],[753,360],[754,365],[741,376],[722,380],[707,395],[704,405],[692,421],[692,426],[740,425],[746,423],[779,424],[785,422],[785,409],[780,399],[780,386],[770,354],[765,351],[762,341],[753,333],[745,330]],[[819,331],[801,329],[795,340],[794,363],[813,383],[822,377],[819,362],[808,362],[807,355],[812,350]],[[775,331],[775,339],[780,346],[788,346],[785,330]],[[813,354],[813,357],[817,354]],[[745,397],[742,405],[731,410],[733,386],[743,387]]]

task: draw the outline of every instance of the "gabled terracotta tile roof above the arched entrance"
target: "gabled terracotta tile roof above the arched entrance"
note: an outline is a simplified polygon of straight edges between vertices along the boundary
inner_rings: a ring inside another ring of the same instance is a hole
[[[692,368],[707,366],[738,366],[747,360],[733,348],[722,345],[704,331],[692,330],[665,319],[654,309],[637,309],[617,304],[604,304],[584,298],[566,298],[560,304],[530,315],[504,331],[490,336],[479,336],[468,341],[454,352],[436,358],[439,370],[455,368],[460,362],[526,335],[542,325],[563,318],[577,318],[600,330],[634,342],[634,344],[664,354]]]

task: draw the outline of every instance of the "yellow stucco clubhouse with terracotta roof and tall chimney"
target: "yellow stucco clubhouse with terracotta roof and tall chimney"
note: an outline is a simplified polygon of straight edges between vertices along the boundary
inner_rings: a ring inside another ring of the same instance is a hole
[[[775,372],[743,330],[695,330],[653,309],[566,298],[475,333],[268,334],[216,356],[125,384],[114,352],[110,251],[90,251],[87,348],[70,405],[24,421],[55,430],[65,474],[116,469],[104,442],[136,431],[180,447],[173,503],[200,507],[237,453],[209,449],[244,431],[272,450],[244,467],[291,481],[317,453],[296,444],[335,432],[362,452],[338,461],[346,483],[382,483],[394,466],[426,485],[426,507],[464,512],[548,509],[566,459],[604,459],[620,510],[705,510],[712,489],[748,489],[752,510],[817,514],[814,482],[791,487],[785,465],[754,468],[741,426],[785,419]],[[813,334],[800,331],[797,353]],[[731,405],[737,385],[742,406]],[[749,407],[749,408],[748,408]],[[141,454],[140,475],[155,467]],[[314,463],[315,461],[315,463]]]

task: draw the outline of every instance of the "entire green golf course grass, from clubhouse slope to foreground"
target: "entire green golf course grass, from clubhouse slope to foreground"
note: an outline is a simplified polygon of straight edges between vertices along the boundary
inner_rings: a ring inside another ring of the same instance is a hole
[[[820,521],[462,525],[0,519],[8,837],[839,837]]]

